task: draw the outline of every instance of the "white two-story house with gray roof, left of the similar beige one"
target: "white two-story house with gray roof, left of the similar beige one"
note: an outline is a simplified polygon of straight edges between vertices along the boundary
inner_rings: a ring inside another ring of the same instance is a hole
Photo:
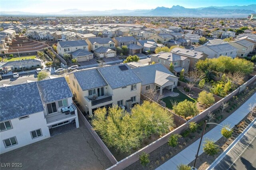
[[[64,53],[72,53],[78,49],[89,51],[88,44],[85,40],[62,41],[57,43],[58,54],[61,56]]]

